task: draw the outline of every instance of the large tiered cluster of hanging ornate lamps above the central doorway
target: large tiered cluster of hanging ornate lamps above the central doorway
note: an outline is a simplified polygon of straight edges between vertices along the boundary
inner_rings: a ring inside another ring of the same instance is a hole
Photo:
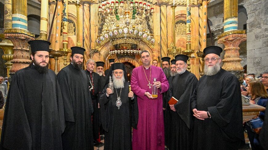
[[[143,41],[154,48],[155,39],[152,31],[151,3],[116,0],[102,2],[99,6],[99,32],[96,39],[97,48],[110,42],[111,45],[129,43],[138,45]],[[138,53],[138,49],[122,49],[126,53]],[[122,53],[120,50],[120,53]],[[111,53],[118,53],[118,50]],[[128,52],[129,51],[129,52]],[[135,53],[135,54],[136,54]]]

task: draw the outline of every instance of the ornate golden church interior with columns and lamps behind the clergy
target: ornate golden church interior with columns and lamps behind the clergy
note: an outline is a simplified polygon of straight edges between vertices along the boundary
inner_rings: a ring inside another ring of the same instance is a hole
[[[84,68],[93,59],[106,70],[115,59],[130,79],[147,50],[158,67],[162,57],[189,56],[188,70],[200,79],[203,49],[215,45],[224,49],[222,68],[242,80],[243,73],[268,70],[267,10],[265,0],[0,0],[0,76],[12,79],[29,66],[28,41],[43,39],[51,42],[56,74],[70,63],[71,47],[80,46]],[[243,113],[243,121],[254,114]]]

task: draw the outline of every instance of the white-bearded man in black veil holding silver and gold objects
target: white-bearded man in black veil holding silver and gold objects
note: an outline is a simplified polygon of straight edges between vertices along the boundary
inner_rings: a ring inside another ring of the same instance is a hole
[[[105,150],[131,150],[131,122],[136,128],[138,116],[137,98],[129,91],[128,77],[123,63],[114,63],[108,76],[112,77],[113,91],[109,87],[109,78],[100,96]],[[132,103],[132,105],[130,105]],[[130,119],[130,106],[132,118]],[[135,116],[135,117],[134,117]]]

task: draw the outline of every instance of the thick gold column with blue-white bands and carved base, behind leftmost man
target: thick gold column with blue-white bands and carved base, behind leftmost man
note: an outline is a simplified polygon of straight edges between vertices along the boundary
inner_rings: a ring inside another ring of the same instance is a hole
[[[10,77],[24,67],[29,66],[28,41],[34,40],[35,34],[27,30],[27,0],[12,0],[12,29],[5,30],[5,38],[14,45],[13,63]]]

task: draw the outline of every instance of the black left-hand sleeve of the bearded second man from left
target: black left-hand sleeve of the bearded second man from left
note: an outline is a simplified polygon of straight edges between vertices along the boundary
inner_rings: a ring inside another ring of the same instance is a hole
[[[65,121],[75,122],[74,110],[72,106],[73,98],[71,97],[70,84],[68,83],[68,75],[65,71],[59,71],[57,75],[59,86],[63,98]]]

